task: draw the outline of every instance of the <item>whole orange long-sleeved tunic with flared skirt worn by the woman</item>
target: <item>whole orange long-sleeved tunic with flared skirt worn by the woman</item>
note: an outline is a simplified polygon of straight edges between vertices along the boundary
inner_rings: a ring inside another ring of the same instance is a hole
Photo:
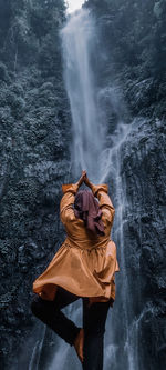
[[[120,271],[116,246],[111,240],[115,209],[107,194],[107,186],[93,186],[102,210],[104,236],[90,237],[84,222],[74,214],[76,184],[62,186],[60,204],[61,221],[66,239],[54,254],[46,270],[33,282],[33,292],[43,299],[53,300],[58,287],[79,297],[89,297],[90,302],[115,300],[115,272]]]

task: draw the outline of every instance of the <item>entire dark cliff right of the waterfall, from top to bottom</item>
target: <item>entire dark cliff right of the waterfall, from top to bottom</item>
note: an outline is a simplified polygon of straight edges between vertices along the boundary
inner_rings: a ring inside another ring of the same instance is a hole
[[[165,369],[166,3],[89,0],[85,7],[96,18],[100,34],[96,71],[110,133],[120,121],[131,124],[121,146],[120,176],[126,300],[137,336],[135,363],[138,369]],[[117,292],[123,287],[121,256],[120,267]]]

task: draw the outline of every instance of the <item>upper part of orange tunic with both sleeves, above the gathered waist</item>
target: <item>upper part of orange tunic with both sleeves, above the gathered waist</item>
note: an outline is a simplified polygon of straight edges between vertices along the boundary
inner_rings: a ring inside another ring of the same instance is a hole
[[[74,196],[77,187],[75,184],[69,184],[64,188],[64,196],[60,204],[61,221],[65,226],[68,234],[68,241],[73,242],[81,248],[105,247],[111,239],[111,229],[114,220],[115,209],[107,194],[107,186],[93,186],[93,193],[97,193],[98,207],[102,210],[101,220],[104,224],[104,236],[94,234],[87,230],[84,221],[81,218],[76,218],[74,213]],[[71,191],[72,190],[72,191]]]

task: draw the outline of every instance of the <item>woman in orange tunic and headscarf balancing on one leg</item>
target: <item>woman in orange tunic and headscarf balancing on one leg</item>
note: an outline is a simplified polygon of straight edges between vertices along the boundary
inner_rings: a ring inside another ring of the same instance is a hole
[[[79,190],[82,183],[90,190]],[[111,239],[115,209],[107,184],[86,174],[62,186],[60,218],[66,238],[45,271],[33,282],[32,313],[73,346],[83,370],[103,369],[103,342],[110,307],[115,301],[116,244]],[[61,309],[82,298],[83,328]]]

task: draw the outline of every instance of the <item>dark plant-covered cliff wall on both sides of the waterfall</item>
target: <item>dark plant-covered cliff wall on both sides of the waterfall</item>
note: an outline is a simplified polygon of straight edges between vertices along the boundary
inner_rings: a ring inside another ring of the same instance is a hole
[[[30,300],[32,281],[63,240],[61,184],[71,179],[71,113],[59,39],[64,4],[0,4],[1,363],[45,370],[55,338],[41,331]],[[139,369],[165,369],[165,1],[89,0],[86,7],[97,20],[93,66],[103,119],[108,133],[122,120],[132,126],[121,147],[120,174]]]

